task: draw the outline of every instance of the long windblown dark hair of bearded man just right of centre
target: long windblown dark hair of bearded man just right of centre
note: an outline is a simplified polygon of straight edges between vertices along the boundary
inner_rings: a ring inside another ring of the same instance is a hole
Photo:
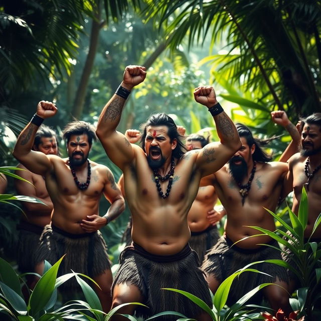
[[[247,144],[251,147],[253,144],[255,145],[255,150],[252,154],[253,161],[255,162],[270,162],[272,160],[272,155],[268,155],[262,148],[262,145],[266,145],[270,139],[258,139],[254,138],[252,132],[249,127],[237,123],[236,125],[237,132],[240,137],[245,137]]]

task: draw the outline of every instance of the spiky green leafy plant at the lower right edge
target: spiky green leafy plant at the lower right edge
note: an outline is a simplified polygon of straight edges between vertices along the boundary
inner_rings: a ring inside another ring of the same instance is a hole
[[[320,278],[321,278],[321,244],[311,241],[311,237],[316,228],[321,223],[321,213],[314,222],[311,236],[306,240],[304,238],[304,230],[307,226],[308,219],[308,204],[307,194],[302,188],[302,195],[296,216],[289,207],[287,211],[290,217],[290,224],[287,224],[281,217],[267,210],[286,231],[276,229],[274,232],[269,230],[251,226],[252,228],[262,232],[260,235],[268,235],[277,242],[283,244],[284,249],[281,250],[285,255],[289,256],[293,263],[288,263],[282,260],[266,260],[287,268],[296,276],[300,288],[297,289],[297,298],[290,298],[290,304],[293,310],[299,310],[299,316],[306,315],[307,319],[312,319],[312,315],[320,313],[316,311],[316,301],[320,299],[321,293]],[[255,235],[254,235],[255,236]],[[269,245],[267,245],[269,246]],[[290,251],[286,251],[286,248]]]

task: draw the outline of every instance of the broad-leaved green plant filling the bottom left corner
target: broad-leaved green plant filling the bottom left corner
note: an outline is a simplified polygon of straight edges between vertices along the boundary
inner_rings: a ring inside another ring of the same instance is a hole
[[[125,303],[113,308],[106,314],[102,311],[95,291],[80,276],[98,285],[93,279],[75,272],[57,278],[58,268],[63,258],[58,260],[53,266],[46,262],[45,272],[37,282],[34,290],[31,291],[27,303],[23,299],[20,277],[7,261],[0,258],[0,313],[7,314],[11,320],[19,321],[53,321],[64,319],[108,321],[124,305],[143,305],[138,302]],[[76,278],[86,301],[70,301],[54,310],[57,301],[57,288],[71,277]],[[123,316],[132,321],[135,320],[130,315]]]

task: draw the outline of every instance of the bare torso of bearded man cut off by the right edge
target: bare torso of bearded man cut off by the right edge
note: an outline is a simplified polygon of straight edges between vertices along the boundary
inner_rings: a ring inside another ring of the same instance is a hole
[[[307,182],[304,174],[304,165],[306,157],[295,155],[295,161],[292,162],[293,173],[293,205],[292,211],[298,214],[299,204],[301,200],[302,187]],[[321,160],[320,160],[321,162]],[[309,183],[309,189],[305,189],[308,201],[308,220],[304,231],[304,236],[309,237],[312,233],[314,223],[321,212],[321,170],[315,173]],[[321,225],[315,230],[313,238],[321,238]]]

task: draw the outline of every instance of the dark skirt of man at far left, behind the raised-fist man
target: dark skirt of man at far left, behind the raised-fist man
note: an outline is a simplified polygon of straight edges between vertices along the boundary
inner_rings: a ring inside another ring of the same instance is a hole
[[[19,271],[21,273],[34,272],[36,265],[35,252],[44,228],[26,221],[21,221],[17,225],[17,230],[19,231],[17,246]]]

